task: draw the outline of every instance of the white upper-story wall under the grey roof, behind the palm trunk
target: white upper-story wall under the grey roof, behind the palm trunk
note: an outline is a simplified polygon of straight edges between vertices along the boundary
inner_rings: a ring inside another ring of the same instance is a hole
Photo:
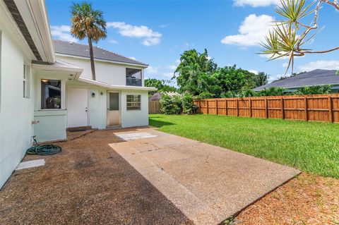
[[[57,59],[72,63],[83,68],[82,78],[92,79],[90,69],[90,59],[80,59],[72,56],[57,55]],[[95,77],[97,81],[108,83],[110,85],[126,85],[126,68],[141,69],[142,86],[144,86],[144,72],[141,66],[129,66],[105,61],[95,61]]]

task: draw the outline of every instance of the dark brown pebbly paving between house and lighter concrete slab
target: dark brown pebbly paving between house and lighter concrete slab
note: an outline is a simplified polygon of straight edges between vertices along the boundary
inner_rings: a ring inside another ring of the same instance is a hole
[[[0,191],[0,224],[191,224],[117,154],[112,130],[59,142],[45,166],[15,171]]]

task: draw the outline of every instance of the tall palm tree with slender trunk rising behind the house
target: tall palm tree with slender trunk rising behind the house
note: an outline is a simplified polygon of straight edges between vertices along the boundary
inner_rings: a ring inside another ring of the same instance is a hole
[[[92,4],[83,2],[81,4],[73,3],[71,6],[72,27],[71,35],[78,39],[87,37],[88,46],[90,47],[90,68],[92,78],[95,80],[95,66],[93,56],[92,42],[99,42],[106,37],[106,21],[102,16],[102,11],[94,10]]]

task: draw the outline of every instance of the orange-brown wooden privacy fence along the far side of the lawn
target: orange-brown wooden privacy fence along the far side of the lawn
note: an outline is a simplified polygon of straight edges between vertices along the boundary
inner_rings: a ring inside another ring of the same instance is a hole
[[[201,99],[194,104],[202,114],[339,122],[339,94]]]

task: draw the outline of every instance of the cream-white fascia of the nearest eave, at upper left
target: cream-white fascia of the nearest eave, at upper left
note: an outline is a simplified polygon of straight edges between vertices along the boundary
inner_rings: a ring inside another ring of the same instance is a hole
[[[49,63],[55,62],[55,53],[52,42],[52,34],[49,28],[46,4],[43,0],[28,0],[35,27],[40,35],[40,42],[43,45],[44,54]]]

